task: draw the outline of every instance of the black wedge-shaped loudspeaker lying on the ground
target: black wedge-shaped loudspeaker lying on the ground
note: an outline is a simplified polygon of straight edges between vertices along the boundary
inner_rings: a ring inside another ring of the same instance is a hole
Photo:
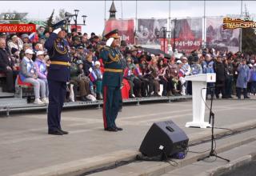
[[[186,150],[189,138],[174,122],[155,122],[147,132],[139,151],[147,157],[170,156]]]

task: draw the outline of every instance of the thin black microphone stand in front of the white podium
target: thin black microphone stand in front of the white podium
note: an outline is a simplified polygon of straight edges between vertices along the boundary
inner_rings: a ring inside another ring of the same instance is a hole
[[[221,158],[221,159],[225,160],[226,162],[230,162],[229,159],[222,158],[222,157],[218,156],[218,154],[216,154],[215,149],[214,149],[214,113],[212,111],[213,100],[214,100],[214,88],[210,88],[210,117],[209,117],[209,123],[210,123],[210,119],[212,118],[210,154],[208,154],[205,157],[198,158],[198,162],[201,161],[201,160],[204,160],[206,158],[210,158],[212,156],[214,156],[216,158]]]

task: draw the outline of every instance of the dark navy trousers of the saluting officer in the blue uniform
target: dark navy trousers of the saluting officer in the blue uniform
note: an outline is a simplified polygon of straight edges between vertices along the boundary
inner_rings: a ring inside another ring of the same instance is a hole
[[[66,96],[66,82],[58,82],[48,79],[49,105],[48,105],[48,130],[62,129],[61,114]]]

